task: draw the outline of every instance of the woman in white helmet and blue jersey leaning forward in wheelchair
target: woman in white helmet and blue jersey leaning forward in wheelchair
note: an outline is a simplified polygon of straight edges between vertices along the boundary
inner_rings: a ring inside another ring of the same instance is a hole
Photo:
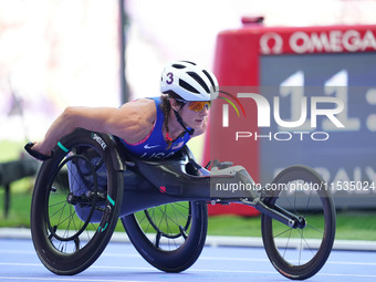
[[[192,62],[173,62],[163,71],[160,92],[160,97],[139,98],[119,108],[67,107],[44,139],[28,143],[25,149],[36,159],[46,160],[63,136],[81,127],[119,137],[138,157],[170,157],[191,137],[205,133],[218,82],[209,70]]]

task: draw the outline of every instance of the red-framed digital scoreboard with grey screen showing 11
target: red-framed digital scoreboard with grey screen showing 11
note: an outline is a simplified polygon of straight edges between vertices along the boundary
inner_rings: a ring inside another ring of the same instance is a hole
[[[206,158],[262,185],[306,165],[337,207],[376,208],[376,25],[223,31],[215,74],[227,94],[210,113]]]

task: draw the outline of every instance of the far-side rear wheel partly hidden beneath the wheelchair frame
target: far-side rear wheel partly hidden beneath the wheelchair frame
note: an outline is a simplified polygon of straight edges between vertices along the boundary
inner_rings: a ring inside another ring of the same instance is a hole
[[[122,222],[147,262],[161,271],[180,272],[202,251],[208,210],[205,202],[174,202],[123,217]]]

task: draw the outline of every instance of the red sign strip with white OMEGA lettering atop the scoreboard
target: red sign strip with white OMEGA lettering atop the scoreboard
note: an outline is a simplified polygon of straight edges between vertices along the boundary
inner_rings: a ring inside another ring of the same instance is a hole
[[[260,50],[262,54],[280,54],[286,50],[299,54],[376,51],[376,35],[372,30],[296,31],[290,38],[268,32],[260,38]]]

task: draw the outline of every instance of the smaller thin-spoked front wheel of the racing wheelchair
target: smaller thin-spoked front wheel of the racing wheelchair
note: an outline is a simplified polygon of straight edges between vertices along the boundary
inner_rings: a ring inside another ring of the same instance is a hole
[[[333,199],[322,177],[303,166],[284,169],[274,178],[272,187],[279,189],[267,199],[269,203],[301,217],[306,226],[294,229],[262,215],[267,254],[282,275],[293,280],[311,278],[325,264],[332,251],[335,236]]]

